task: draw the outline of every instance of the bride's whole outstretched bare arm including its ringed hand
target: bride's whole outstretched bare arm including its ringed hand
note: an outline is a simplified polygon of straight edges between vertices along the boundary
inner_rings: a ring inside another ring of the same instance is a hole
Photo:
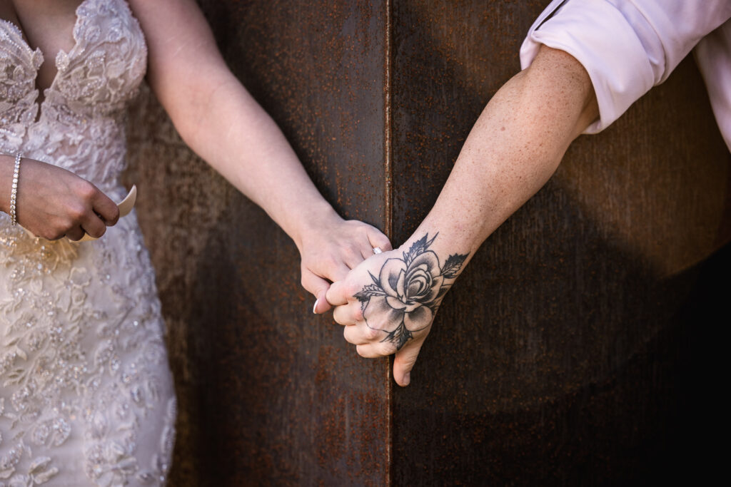
[[[344,277],[387,238],[344,222],[317,191],[276,123],[224,63],[192,0],[129,2],[148,42],[148,80],[183,140],[294,239],[303,285],[327,310],[325,277]]]

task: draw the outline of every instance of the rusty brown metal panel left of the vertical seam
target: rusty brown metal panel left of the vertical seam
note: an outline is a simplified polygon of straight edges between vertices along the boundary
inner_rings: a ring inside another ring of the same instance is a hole
[[[382,2],[200,4],[325,198],[383,228]],[[363,361],[330,315],[312,315],[295,245],[183,145],[150,93],[129,141],[179,398],[171,485],[383,485],[387,360]]]

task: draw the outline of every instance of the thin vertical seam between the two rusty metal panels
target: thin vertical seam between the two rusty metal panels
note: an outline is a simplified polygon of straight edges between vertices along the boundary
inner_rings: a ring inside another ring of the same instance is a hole
[[[385,32],[385,53],[384,53],[384,137],[383,137],[383,151],[384,151],[384,179],[385,179],[385,233],[389,239],[393,240],[393,166],[392,161],[392,118],[391,118],[391,62],[392,62],[392,51],[391,51],[391,40],[393,38],[393,6],[392,0],[385,0],[386,9],[386,32]],[[386,408],[387,408],[387,423],[386,423],[386,486],[391,486],[393,480],[391,478],[393,471],[393,377],[391,377],[391,363],[392,359],[387,361],[386,366]]]

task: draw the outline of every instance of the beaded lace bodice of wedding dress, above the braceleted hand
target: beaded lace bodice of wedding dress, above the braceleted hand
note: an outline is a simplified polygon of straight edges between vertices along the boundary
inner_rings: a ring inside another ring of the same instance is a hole
[[[126,104],[147,64],[145,38],[122,0],[84,0],[74,46],[38,102],[43,62],[14,24],[0,20],[0,152],[56,164],[109,191],[124,169]]]

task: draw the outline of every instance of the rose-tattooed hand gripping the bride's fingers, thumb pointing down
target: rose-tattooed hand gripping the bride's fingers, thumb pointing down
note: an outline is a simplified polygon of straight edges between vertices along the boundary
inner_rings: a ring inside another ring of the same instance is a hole
[[[409,384],[436,310],[467,258],[453,254],[442,264],[429,250],[434,239],[425,235],[407,251],[368,258],[327,291],[327,301],[338,305],[333,318],[345,325],[345,340],[360,356],[395,353],[393,377],[399,386]]]

